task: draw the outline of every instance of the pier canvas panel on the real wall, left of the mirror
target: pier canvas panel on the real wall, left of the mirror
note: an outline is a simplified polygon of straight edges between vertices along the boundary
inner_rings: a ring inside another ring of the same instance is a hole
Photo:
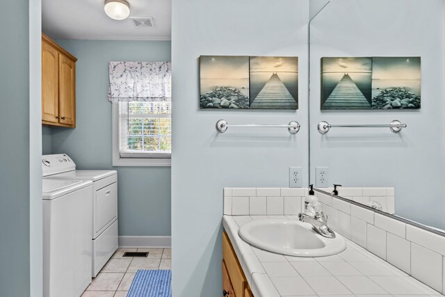
[[[298,109],[298,57],[250,57],[250,109]]]

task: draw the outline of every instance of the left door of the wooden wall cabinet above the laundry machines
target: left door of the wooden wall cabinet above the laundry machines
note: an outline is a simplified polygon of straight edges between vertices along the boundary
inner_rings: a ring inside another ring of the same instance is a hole
[[[58,122],[58,51],[42,42],[42,120]]]

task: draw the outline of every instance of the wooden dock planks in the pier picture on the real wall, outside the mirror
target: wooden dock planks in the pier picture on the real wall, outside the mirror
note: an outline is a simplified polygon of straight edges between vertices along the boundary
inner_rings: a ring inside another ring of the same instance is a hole
[[[266,85],[258,93],[251,109],[297,109],[298,104],[276,73],[272,74]]]

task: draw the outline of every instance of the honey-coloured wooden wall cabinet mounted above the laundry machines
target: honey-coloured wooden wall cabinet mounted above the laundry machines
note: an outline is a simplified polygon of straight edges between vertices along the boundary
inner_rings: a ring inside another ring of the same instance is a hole
[[[76,127],[77,58],[42,33],[42,124]]]

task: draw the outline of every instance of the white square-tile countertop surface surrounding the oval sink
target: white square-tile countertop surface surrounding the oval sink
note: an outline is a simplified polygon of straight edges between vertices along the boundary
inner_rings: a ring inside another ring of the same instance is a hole
[[[255,297],[444,296],[345,238],[346,250],[327,257],[291,257],[250,246],[238,229],[250,220],[296,216],[223,216]]]

